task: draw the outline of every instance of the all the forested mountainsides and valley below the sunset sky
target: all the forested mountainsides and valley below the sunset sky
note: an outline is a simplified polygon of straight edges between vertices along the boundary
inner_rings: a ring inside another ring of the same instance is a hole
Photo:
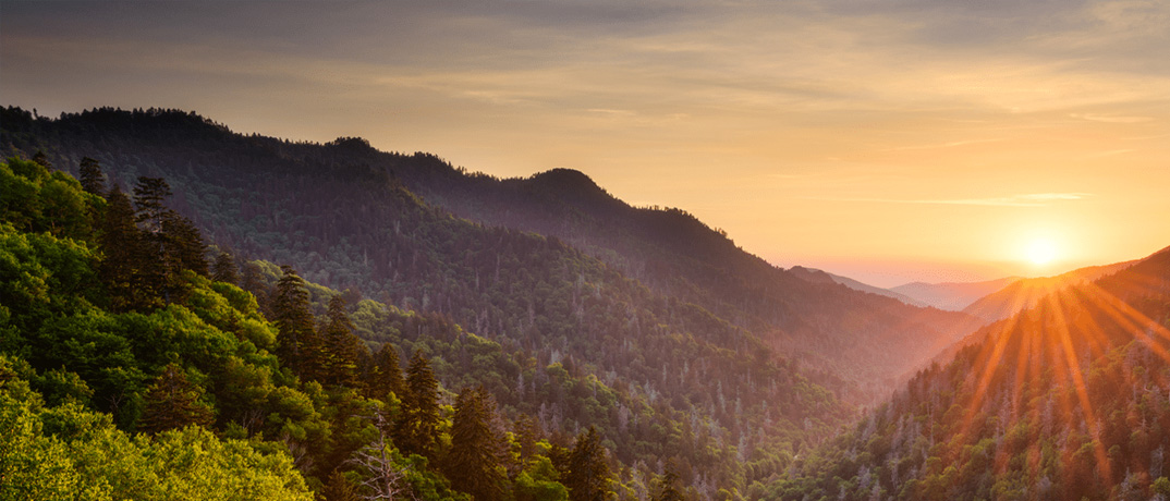
[[[0,114],[0,499],[1170,499],[1170,250],[979,328],[576,171]]]

